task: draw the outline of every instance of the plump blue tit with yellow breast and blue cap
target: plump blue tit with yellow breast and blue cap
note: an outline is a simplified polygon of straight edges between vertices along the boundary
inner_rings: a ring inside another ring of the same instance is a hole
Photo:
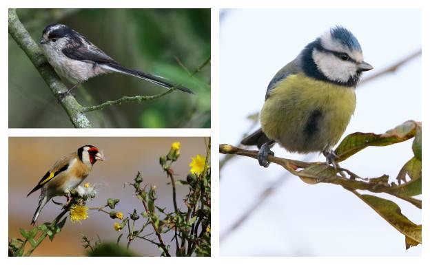
[[[323,153],[327,165],[339,167],[332,148],[354,114],[362,72],[372,69],[354,34],[342,25],[329,28],[275,74],[260,111],[261,127],[241,144],[258,147],[263,167],[269,167],[276,143],[290,152]]]

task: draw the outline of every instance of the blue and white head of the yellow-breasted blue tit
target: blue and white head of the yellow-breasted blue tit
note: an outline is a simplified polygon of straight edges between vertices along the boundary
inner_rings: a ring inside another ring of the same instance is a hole
[[[373,67],[363,61],[360,43],[346,28],[336,26],[309,43],[301,63],[307,76],[337,85],[355,87],[362,72]]]

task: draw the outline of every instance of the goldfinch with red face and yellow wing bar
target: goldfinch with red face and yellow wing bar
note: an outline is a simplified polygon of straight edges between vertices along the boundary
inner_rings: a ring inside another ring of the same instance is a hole
[[[77,151],[63,156],[51,169],[45,173],[36,187],[28,193],[27,197],[41,189],[39,204],[34,212],[31,224],[36,223],[43,206],[55,196],[65,195],[70,198],[70,192],[87,178],[92,166],[97,160],[104,160],[103,151],[93,145],[84,145]]]

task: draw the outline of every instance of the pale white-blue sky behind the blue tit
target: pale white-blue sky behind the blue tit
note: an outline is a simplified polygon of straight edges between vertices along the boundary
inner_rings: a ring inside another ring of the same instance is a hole
[[[364,77],[421,46],[420,10],[227,10],[220,23],[220,143],[240,141],[251,125],[246,117],[262,107],[274,74],[334,25],[348,28],[360,42],[365,61],[374,67]],[[421,120],[421,59],[358,87],[356,95],[356,112],[344,136],[356,131],[381,134],[406,120]],[[278,146],[273,151],[276,156],[303,160]],[[317,155],[310,159],[324,160]],[[363,177],[386,173],[393,181],[412,156],[409,140],[369,147],[341,165]],[[278,165],[264,169],[251,158],[234,158],[225,165],[220,173],[220,233],[283,173]],[[220,243],[221,255],[421,254],[421,246],[405,251],[405,237],[342,187],[286,178]],[[421,211],[415,206],[384,198],[398,203],[409,220],[421,224]]]

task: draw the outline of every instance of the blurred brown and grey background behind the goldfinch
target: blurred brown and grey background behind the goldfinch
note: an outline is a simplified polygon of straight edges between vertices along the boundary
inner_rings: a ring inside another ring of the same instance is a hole
[[[136,208],[138,213],[143,206],[134,197],[132,187],[123,186],[124,182],[132,182],[137,171],[141,171],[143,183],[156,185],[158,205],[172,210],[172,187],[167,185],[167,177],[163,173],[158,158],[166,155],[172,142],[181,142],[181,157],[174,163],[173,169],[176,180],[185,180],[190,167],[191,157],[196,154],[205,156],[207,138],[9,138],[9,237],[21,237],[19,228],[30,229],[30,221],[37,207],[39,192],[29,197],[27,193],[39,182],[54,162],[61,156],[77,150],[83,145],[99,147],[105,154],[105,161],[96,162],[90,176],[84,182],[97,184],[96,198],[88,202],[88,206],[103,206],[107,198],[119,198],[116,210],[125,216]],[[186,209],[182,198],[188,191],[187,186],[177,186],[178,206]],[[57,197],[57,202],[65,202],[65,198]],[[48,202],[37,225],[51,222],[60,212],[60,207]],[[81,234],[89,238],[101,237],[102,242],[115,242],[119,232],[114,231],[114,222],[105,213],[89,211],[89,218],[81,224],[72,224],[68,220],[61,233],[56,235],[53,242],[45,240],[33,255],[39,256],[80,256],[85,255],[81,246]],[[137,222],[143,222],[140,218]],[[149,227],[147,228],[150,232]],[[123,235],[122,243],[125,243]],[[170,235],[165,236],[165,242],[170,242]],[[125,244],[123,244],[125,245]],[[174,246],[172,246],[173,249]],[[160,255],[156,246],[144,240],[131,244],[132,251],[139,255]]]

